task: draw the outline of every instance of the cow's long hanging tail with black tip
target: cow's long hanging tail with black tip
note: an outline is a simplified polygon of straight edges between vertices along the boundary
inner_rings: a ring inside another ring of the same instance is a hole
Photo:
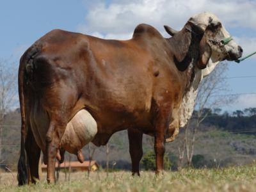
[[[19,100],[20,100],[20,114],[21,114],[21,139],[20,139],[20,158],[18,162],[18,174],[17,179],[19,186],[28,184],[28,168],[27,168],[27,157],[25,149],[25,141],[27,135],[27,123],[26,122],[26,105],[24,97],[24,87],[26,82],[24,82],[25,76],[31,72],[31,65],[33,65],[33,57],[38,52],[38,47],[32,46],[24,53],[22,58],[20,58],[19,66]],[[31,146],[32,147],[32,146]]]

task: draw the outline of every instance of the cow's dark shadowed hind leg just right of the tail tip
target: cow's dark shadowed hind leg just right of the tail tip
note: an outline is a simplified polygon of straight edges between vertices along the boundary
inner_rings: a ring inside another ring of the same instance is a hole
[[[36,180],[39,180],[38,175],[38,163],[40,159],[40,148],[36,144],[35,138],[31,129],[28,130],[28,134],[25,141],[25,149],[28,156],[28,165],[29,165],[29,172],[28,172],[28,184],[31,182],[35,184]]]

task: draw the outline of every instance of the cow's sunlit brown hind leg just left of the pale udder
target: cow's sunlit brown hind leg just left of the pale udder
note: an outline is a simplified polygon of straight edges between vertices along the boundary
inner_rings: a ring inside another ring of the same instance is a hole
[[[50,119],[45,137],[48,183],[55,182],[57,152],[60,149],[60,141],[71,118],[77,98],[78,94],[72,81],[58,81],[56,84],[52,84],[51,88],[44,90],[42,107],[47,111]]]

